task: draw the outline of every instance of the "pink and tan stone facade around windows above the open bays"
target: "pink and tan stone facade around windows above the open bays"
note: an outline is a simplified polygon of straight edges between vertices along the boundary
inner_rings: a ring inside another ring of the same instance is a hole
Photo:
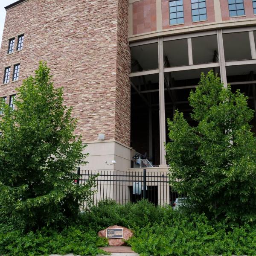
[[[245,15],[239,17],[229,17],[228,0],[206,0],[207,20],[196,22],[192,22],[191,0],[183,0],[184,23],[177,25],[170,25],[169,0],[130,0],[130,5],[130,41],[154,38],[159,32],[172,35],[212,29],[214,24],[216,28],[222,27],[222,23],[224,27],[235,26],[232,21],[244,20],[243,25],[256,23],[252,0],[244,0]],[[230,24],[225,24],[227,21]],[[138,38],[136,35],[145,36]]]

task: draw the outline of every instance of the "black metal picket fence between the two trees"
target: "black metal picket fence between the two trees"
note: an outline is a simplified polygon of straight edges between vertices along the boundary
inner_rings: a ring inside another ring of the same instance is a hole
[[[96,186],[91,198],[95,205],[103,199],[112,199],[118,204],[126,204],[137,202],[142,198],[148,199],[155,205],[173,205],[177,193],[172,192],[168,172],[153,172],[151,170],[122,172],[79,169],[78,184],[82,186],[89,177],[96,177]],[[81,210],[88,208],[88,202],[84,202]]]

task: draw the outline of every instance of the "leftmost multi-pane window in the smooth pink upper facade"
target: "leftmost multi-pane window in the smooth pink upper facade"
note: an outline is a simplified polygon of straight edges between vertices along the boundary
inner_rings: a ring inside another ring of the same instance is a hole
[[[184,23],[183,0],[170,0],[170,24]]]

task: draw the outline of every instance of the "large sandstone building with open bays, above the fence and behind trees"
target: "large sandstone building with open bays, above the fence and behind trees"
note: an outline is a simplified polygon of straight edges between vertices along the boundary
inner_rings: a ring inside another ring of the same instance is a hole
[[[6,7],[0,97],[47,61],[87,143],[87,169],[166,168],[166,118],[213,69],[256,109],[256,0],[19,0]],[[192,121],[191,121],[192,122]],[[114,163],[116,162],[116,163]]]

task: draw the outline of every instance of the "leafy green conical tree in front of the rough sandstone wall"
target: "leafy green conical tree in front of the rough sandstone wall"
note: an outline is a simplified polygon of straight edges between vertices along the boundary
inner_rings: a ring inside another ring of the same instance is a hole
[[[94,180],[75,186],[85,145],[73,135],[76,119],[63,105],[46,63],[17,89],[15,109],[2,102],[0,120],[0,214],[26,229],[65,223],[90,198]]]

